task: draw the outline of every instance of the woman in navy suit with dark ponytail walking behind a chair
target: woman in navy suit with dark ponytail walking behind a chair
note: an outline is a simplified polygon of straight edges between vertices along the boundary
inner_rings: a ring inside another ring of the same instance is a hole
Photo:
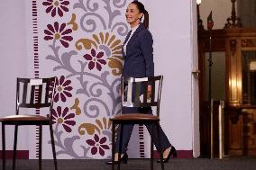
[[[141,23],[142,16],[144,15],[144,22]],[[147,30],[149,24],[149,14],[144,9],[144,5],[138,1],[133,1],[128,5],[126,9],[126,21],[130,24],[132,30],[129,31],[126,39],[123,42],[123,76],[124,77],[144,77],[154,76],[154,62],[153,62],[153,40],[151,32]],[[151,87],[148,88],[151,93]],[[133,112],[143,112],[152,114],[151,108],[130,108],[124,107],[123,114],[129,114]],[[151,127],[147,126],[148,130],[151,131]],[[123,125],[123,143],[121,151],[119,151],[119,136],[115,142],[114,163],[112,161],[106,162],[108,165],[118,164],[118,152],[121,153],[120,162],[127,163],[128,156],[126,154],[126,148],[129,143],[129,139],[132,135],[133,125]],[[168,162],[169,157],[177,157],[177,152],[174,147],[169,143],[169,139],[166,137],[163,130],[160,128],[160,140],[163,151],[163,162]],[[119,132],[120,134],[120,132]],[[157,134],[151,134],[156,139]],[[155,142],[155,146],[160,150],[160,145]],[[160,162],[160,160],[158,161]]]

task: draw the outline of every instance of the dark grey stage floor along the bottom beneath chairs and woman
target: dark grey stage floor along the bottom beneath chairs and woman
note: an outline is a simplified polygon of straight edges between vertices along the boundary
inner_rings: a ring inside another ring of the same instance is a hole
[[[111,170],[105,165],[106,160],[67,159],[58,160],[59,170]],[[2,160],[0,160],[2,170]],[[16,170],[37,170],[38,160],[18,159]],[[7,160],[6,170],[12,169],[11,160]],[[122,170],[149,170],[150,159],[129,159],[127,165],[121,165]],[[160,164],[154,162],[154,169],[160,170]],[[255,170],[256,158],[176,158],[165,164],[165,170]],[[52,160],[42,160],[42,170],[54,170]]]

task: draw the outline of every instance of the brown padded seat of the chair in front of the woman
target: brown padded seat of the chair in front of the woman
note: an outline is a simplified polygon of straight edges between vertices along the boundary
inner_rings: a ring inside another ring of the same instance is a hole
[[[152,114],[131,113],[116,115],[111,121],[160,121],[158,116]]]

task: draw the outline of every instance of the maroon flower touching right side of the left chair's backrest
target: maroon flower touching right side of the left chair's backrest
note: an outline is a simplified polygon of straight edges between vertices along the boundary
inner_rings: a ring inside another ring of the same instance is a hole
[[[72,97],[70,91],[73,90],[73,87],[70,86],[71,81],[65,80],[65,76],[60,76],[60,78],[56,82],[56,92],[54,95],[54,102],[57,103],[60,99],[63,103],[67,101],[66,97]]]

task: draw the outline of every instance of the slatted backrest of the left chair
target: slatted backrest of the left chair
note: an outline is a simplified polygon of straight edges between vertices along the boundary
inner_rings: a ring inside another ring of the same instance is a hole
[[[19,108],[52,109],[57,77],[50,78],[17,78],[16,114]]]

